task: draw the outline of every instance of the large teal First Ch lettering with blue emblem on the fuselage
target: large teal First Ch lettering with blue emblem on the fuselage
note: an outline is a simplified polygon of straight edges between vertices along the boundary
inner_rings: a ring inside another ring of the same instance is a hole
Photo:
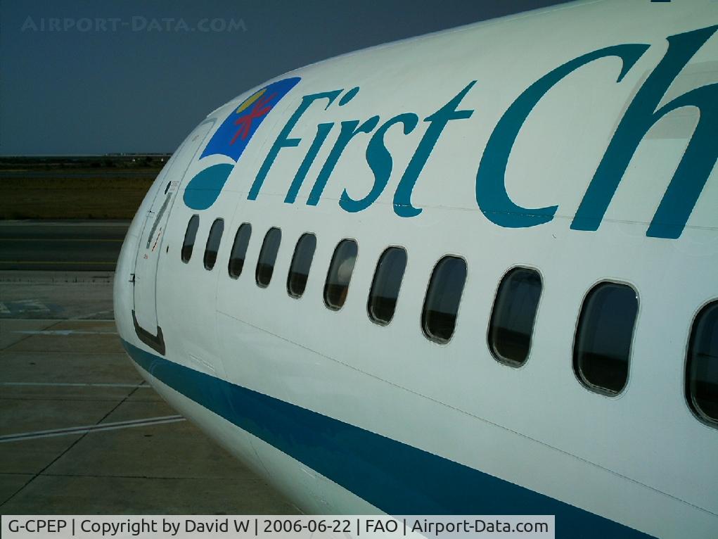
[[[646,236],[654,238],[677,239],[681,236],[718,159],[718,144],[715,143],[718,139],[718,83],[699,86],[673,98],[668,103],[661,103],[673,80],[717,29],[718,26],[712,26],[668,36],[668,49],[638,88],[633,101],[628,104],[623,118],[617,124],[615,132],[608,134],[610,142],[599,165],[595,170],[586,170],[588,187],[573,217],[571,229],[596,231],[645,134],[671,111],[682,107],[695,107],[699,109],[698,124],[645,233]],[[531,121],[529,118],[531,111],[541,99],[575,70],[584,68],[596,60],[617,58],[622,64],[616,80],[620,83],[649,48],[651,45],[644,43],[627,43],[586,52],[538,78],[508,106],[493,127],[485,147],[474,149],[478,161],[474,178],[476,203],[488,221],[505,228],[520,229],[546,224],[554,219],[558,206],[544,208],[519,206],[506,189],[506,167],[518,134],[526,121]],[[255,94],[249,98],[247,101],[251,99],[253,101],[242,111],[238,109],[237,114],[230,115],[220,126],[217,134],[202,153],[202,157],[221,153],[237,160],[243,147],[246,146],[245,141],[251,137],[253,129],[256,129],[255,122],[261,121],[271,110],[272,103],[276,103],[279,99],[271,96],[274,93],[284,95],[297,83],[297,80],[299,79],[279,81],[267,86],[261,96]],[[338,201],[340,208],[350,213],[365,210],[388,188],[390,178],[399,176],[393,193],[393,211],[396,216],[402,218],[418,216],[423,209],[414,206],[411,201],[414,187],[421,180],[421,171],[443,133],[450,131],[455,121],[468,120],[474,113],[473,109],[462,105],[462,101],[476,83],[476,80],[472,80],[464,88],[457,88],[458,92],[454,97],[423,119],[419,114],[405,111],[388,118],[374,115],[365,119],[341,122],[325,121],[316,126],[316,134],[311,141],[297,137],[299,129],[295,128],[302,124],[304,113],[310,108],[321,107],[331,114],[336,107],[344,106],[355,98],[359,88],[340,88],[302,96],[297,109],[289,115],[286,124],[279,129],[279,134],[264,156],[264,162],[249,188],[248,200],[256,200],[261,195],[264,180],[277,159],[281,160],[291,152],[302,152],[303,157],[294,178],[291,182],[287,178],[288,185],[284,198],[285,203],[295,203],[304,181],[307,180],[309,170],[313,168],[312,163],[320,154],[320,149],[327,141],[330,132],[334,132],[335,136],[332,137],[334,142],[325,162],[318,167],[316,177],[312,178],[313,185],[307,196],[307,206],[317,206],[320,203],[322,193],[332,178],[332,172],[348,145],[364,144],[365,159],[373,175],[373,185],[370,185],[365,193],[354,192],[350,195],[346,189],[343,190]],[[391,137],[396,138],[400,137],[401,133],[407,135],[415,129],[422,134],[409,164],[403,171],[394,170],[391,145],[386,144],[388,132],[391,132]],[[312,132],[312,129],[305,127],[302,131]],[[241,147],[233,147],[233,144],[240,144]],[[217,170],[226,167],[226,170],[221,170],[218,174],[220,178],[226,178],[225,175],[232,170],[231,165],[215,165],[215,167]],[[213,170],[215,167],[210,167],[208,170]],[[202,173],[200,172],[200,175]],[[195,180],[200,175],[197,175]],[[212,181],[212,178],[208,178],[206,185],[210,185]],[[200,209],[201,205],[192,206],[188,203],[188,206]]]

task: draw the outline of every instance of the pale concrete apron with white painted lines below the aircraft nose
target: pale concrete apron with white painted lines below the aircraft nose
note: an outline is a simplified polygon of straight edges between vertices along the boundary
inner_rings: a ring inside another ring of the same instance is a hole
[[[112,279],[0,271],[0,513],[297,514],[144,383]]]

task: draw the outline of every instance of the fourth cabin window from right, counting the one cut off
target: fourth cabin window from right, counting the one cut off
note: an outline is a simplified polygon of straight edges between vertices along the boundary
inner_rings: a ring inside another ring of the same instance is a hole
[[[461,295],[466,282],[466,262],[459,257],[444,257],[434,267],[421,310],[421,329],[426,338],[439,344],[454,334]]]

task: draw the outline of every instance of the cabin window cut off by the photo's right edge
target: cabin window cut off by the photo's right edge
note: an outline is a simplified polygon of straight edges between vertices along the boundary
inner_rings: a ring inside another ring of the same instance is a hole
[[[718,427],[718,301],[696,316],[686,363],[686,397],[694,413]]]

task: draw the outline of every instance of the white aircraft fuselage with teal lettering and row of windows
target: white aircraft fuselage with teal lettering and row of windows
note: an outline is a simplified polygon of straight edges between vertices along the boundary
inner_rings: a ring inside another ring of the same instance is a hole
[[[691,325],[718,298],[717,116],[701,107],[718,100],[715,24],[710,0],[579,2],[344,55],[243,93],[187,137],[129,229],[115,284],[126,348],[170,404],[307,512],[556,514],[557,537],[717,537],[718,428],[685,390]],[[248,132],[220,137],[251,111],[261,121]],[[679,163],[700,185],[672,181]],[[232,278],[243,223],[251,239]],[[281,244],[260,287],[271,227]],[[306,232],[316,250],[292,298]],[[325,280],[342,239],[358,254],[331,310]],[[368,293],[389,246],[406,249],[406,272],[379,325]],[[421,313],[446,255],[465,260],[467,278],[453,335],[437,343]],[[518,368],[487,342],[514,267],[542,283]],[[638,297],[615,395],[589,390],[573,367],[599,282]]]

